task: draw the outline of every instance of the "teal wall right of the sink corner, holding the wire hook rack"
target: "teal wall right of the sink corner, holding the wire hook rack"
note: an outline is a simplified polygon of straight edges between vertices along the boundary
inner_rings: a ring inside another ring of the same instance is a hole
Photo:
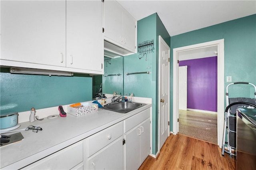
[[[161,35],[168,44],[170,36],[159,16],[155,13],[138,23],[137,43],[154,40],[154,52],[146,53],[139,59],[140,53],[124,57],[124,93],[134,93],[136,97],[152,98],[152,154],[158,152],[158,108],[157,108],[157,61],[158,36]],[[143,54],[142,54],[143,55]],[[125,73],[151,71],[151,74],[125,75]]]

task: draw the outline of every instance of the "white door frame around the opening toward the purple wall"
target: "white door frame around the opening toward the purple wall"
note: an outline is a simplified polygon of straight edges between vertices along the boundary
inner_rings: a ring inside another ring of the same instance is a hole
[[[218,145],[222,147],[224,129],[224,39],[211,42],[198,43],[173,49],[173,134],[178,133],[178,53],[192,49],[200,49],[210,46],[218,47],[217,55],[217,138]]]

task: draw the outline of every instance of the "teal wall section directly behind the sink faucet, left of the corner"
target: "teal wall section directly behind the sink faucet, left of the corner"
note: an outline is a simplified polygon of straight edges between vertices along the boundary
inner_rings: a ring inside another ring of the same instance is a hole
[[[123,95],[123,58],[113,58],[107,63],[104,63],[104,75],[121,74],[120,76],[102,76],[102,92],[113,94],[114,91],[118,95]]]

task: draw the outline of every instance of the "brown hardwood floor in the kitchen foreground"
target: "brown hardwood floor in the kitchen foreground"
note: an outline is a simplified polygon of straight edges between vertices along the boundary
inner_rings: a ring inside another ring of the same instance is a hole
[[[158,159],[146,158],[139,170],[234,170],[235,160],[228,154],[222,156],[218,145],[171,134]]]

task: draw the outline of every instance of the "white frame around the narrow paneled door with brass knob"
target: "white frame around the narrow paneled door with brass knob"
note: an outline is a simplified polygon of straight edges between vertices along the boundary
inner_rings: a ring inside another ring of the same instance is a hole
[[[160,51],[160,42],[163,42],[165,46],[167,46],[169,48],[169,51],[170,51],[170,47],[168,46],[168,44],[164,41],[164,39],[159,36],[159,40],[158,40],[158,43],[159,43],[159,53],[158,53],[158,60],[160,59],[160,55],[161,55],[161,51]],[[169,53],[169,58],[170,58],[170,53]],[[170,121],[170,60],[169,60],[169,64],[168,64],[168,70],[169,70],[169,76],[168,76],[168,80],[166,80],[166,82],[168,82],[168,111],[167,111],[167,115],[168,115],[168,118],[167,120]],[[160,78],[159,76],[159,73],[160,73],[160,62],[158,62],[158,77]],[[158,101],[157,101],[157,104],[158,104],[158,153],[160,153],[160,81],[159,81],[159,78],[158,78]],[[170,124],[168,124],[168,136],[170,136]]]

